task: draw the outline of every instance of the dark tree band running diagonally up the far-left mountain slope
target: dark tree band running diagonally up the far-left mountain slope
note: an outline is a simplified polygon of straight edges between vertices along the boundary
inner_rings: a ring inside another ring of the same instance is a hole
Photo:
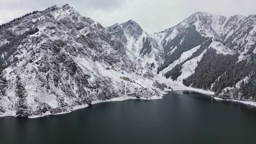
[[[38,28],[31,28],[29,31],[26,31],[19,36],[13,37],[11,40],[9,40],[10,42],[0,45],[0,72],[12,64],[12,61],[7,59],[17,50],[17,47],[20,45],[21,41],[28,35],[34,34],[38,31]],[[1,55],[3,55],[3,58]]]

